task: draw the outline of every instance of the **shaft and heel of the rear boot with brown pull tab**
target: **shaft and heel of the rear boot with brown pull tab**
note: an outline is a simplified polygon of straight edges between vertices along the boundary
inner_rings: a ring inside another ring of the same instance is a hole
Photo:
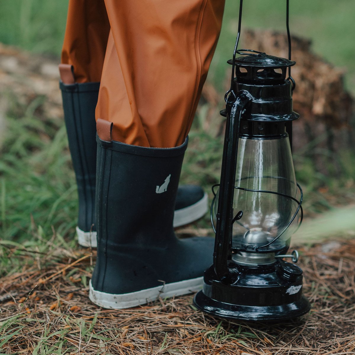
[[[64,120],[78,186],[79,212],[76,232],[83,246],[96,246],[96,121],[100,83],[76,83],[73,68],[59,66]]]

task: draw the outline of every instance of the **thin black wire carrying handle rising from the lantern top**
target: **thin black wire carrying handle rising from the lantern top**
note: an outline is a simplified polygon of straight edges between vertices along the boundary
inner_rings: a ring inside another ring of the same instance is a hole
[[[258,55],[261,54],[262,52],[252,50],[252,49],[240,49],[237,50],[238,44],[239,44],[239,38],[240,38],[240,29],[241,29],[241,23],[242,23],[242,10],[243,10],[243,0],[240,0],[239,2],[239,18],[238,18],[238,33],[237,33],[237,38],[235,40],[235,46],[234,46],[234,51],[233,51],[233,60],[232,60],[232,74],[231,74],[231,79],[230,79],[230,88],[229,90],[225,93],[224,95],[224,101],[226,104],[228,103],[233,103],[236,99],[236,95],[233,91],[233,82],[234,82],[234,72],[235,72],[235,56],[236,54],[241,54],[241,55]],[[289,10],[290,10],[290,4],[289,0],[286,0],[286,30],[287,30],[287,41],[288,41],[288,60],[291,60],[291,34],[290,34],[290,26],[289,26]],[[252,53],[245,53],[245,52],[252,52]],[[293,93],[295,87],[296,87],[296,82],[294,78],[291,76],[291,67],[288,67],[288,78],[292,84],[291,86],[291,92]]]

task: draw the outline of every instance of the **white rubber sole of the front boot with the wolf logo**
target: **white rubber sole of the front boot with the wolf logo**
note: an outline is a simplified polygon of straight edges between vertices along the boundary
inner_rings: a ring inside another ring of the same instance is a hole
[[[115,295],[94,290],[90,280],[89,299],[95,305],[103,308],[124,309],[153,302],[159,297],[166,298],[195,293],[202,289],[202,285],[203,277],[197,277],[195,279],[173,282],[146,290]]]

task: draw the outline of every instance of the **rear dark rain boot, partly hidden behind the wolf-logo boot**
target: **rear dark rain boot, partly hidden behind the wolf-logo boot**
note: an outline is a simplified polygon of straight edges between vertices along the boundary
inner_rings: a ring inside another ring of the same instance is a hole
[[[78,243],[82,246],[96,248],[95,107],[100,83],[75,83],[73,67],[69,64],[60,64],[59,71],[64,119],[78,186],[79,213],[76,227]],[[207,193],[204,193],[200,186],[180,186],[176,199],[174,227],[192,223],[203,217],[207,208]]]

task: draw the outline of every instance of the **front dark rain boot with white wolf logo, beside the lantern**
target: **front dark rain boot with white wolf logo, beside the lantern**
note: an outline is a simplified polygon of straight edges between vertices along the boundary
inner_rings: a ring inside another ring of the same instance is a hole
[[[176,238],[174,204],[187,141],[145,148],[110,141],[98,120],[97,261],[89,298],[129,308],[201,289],[214,239]]]

